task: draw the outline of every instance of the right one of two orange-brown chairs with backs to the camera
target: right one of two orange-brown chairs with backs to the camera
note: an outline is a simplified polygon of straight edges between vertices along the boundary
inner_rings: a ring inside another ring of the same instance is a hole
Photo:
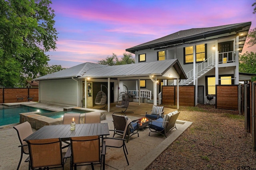
[[[70,169],[73,169],[73,166],[76,170],[77,166],[91,165],[94,170],[94,164],[100,164],[100,169],[105,169],[106,144],[103,142],[100,150],[99,136],[70,137],[70,142]]]

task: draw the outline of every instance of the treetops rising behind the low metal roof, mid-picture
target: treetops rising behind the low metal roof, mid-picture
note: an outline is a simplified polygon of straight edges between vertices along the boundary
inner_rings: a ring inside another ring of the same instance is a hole
[[[123,53],[123,57],[118,59],[117,55],[112,53],[111,57],[106,57],[106,59],[102,59],[98,61],[98,64],[113,66],[113,65],[121,65],[121,64],[132,64],[135,63],[134,57],[132,57],[132,53]]]

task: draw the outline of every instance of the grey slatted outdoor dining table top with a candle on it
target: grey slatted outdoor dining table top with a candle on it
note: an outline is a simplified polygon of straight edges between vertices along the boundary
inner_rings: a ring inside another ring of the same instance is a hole
[[[60,138],[62,141],[68,141],[70,137],[83,137],[110,135],[108,123],[84,123],[76,124],[75,130],[70,130],[70,125],[46,125],[28,137],[24,141],[32,139],[52,139]]]

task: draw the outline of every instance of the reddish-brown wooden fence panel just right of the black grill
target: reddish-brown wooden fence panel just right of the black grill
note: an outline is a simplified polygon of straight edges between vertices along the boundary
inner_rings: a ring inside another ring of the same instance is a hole
[[[238,85],[216,85],[216,108],[238,110]]]

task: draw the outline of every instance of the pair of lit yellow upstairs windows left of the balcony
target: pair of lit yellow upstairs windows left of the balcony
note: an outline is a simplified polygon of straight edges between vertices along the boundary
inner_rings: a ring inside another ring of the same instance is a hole
[[[194,62],[194,47],[184,47],[184,64]],[[196,62],[202,62],[206,59],[206,44],[196,45]]]

